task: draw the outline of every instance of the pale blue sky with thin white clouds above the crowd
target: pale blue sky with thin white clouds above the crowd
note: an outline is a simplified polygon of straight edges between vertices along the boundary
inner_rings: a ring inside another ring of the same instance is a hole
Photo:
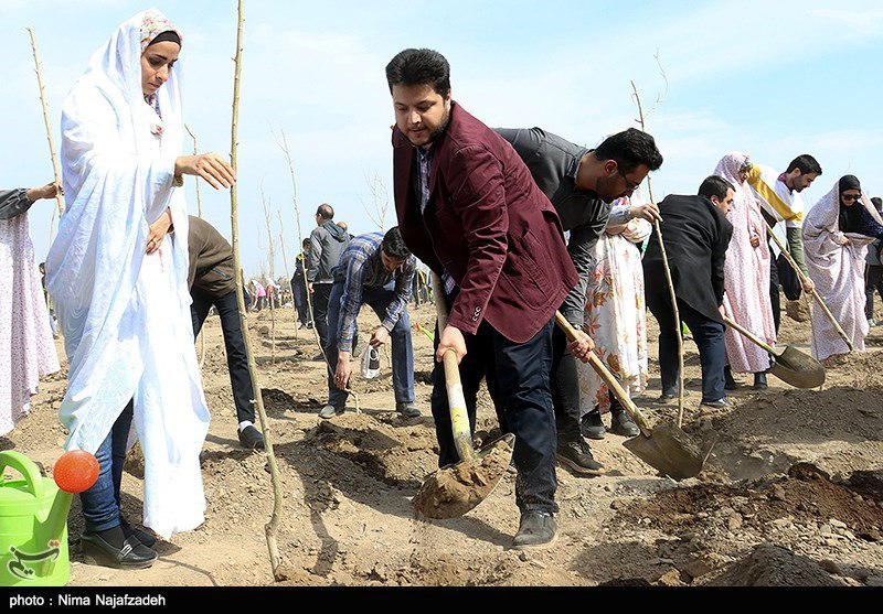
[[[0,0],[0,152],[3,187],[52,177],[28,33],[34,29],[58,146],[60,109],[92,53],[119,23],[156,6],[184,33],[184,115],[201,150],[230,151],[236,2]],[[384,66],[427,46],[451,64],[454,98],[487,125],[540,126],[596,144],[634,125],[630,79],[666,162],[657,200],[694,193],[727,151],[784,168],[812,153],[823,176],[811,206],[842,174],[883,194],[883,4],[875,0],[316,2],[246,0],[240,127],[240,231],[247,274],[268,271],[262,184],[298,245],[288,169],[272,130],[284,130],[297,173],[301,227],[328,202],[354,234],[376,230],[369,186],[391,191],[392,104]],[[230,198],[203,185],[203,215],[230,236]],[[193,181],[189,205],[196,211]],[[393,225],[390,203],[386,226]],[[279,229],[273,214],[273,234]],[[51,206],[31,233],[49,249]],[[277,247],[277,252],[278,252]],[[276,274],[284,274],[281,258]]]

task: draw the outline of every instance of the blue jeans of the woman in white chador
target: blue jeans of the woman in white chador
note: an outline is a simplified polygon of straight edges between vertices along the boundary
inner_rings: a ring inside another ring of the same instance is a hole
[[[92,488],[79,493],[86,530],[106,531],[119,525],[119,485],[126,462],[126,444],[131,427],[132,402],[123,410],[107,437],[95,452],[98,461],[98,480]]]

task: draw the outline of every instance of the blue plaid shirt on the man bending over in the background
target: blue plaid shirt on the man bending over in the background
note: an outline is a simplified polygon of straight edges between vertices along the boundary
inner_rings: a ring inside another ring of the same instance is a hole
[[[334,281],[343,281],[343,297],[340,300],[341,322],[338,330],[338,351],[352,352],[352,337],[355,334],[355,319],[362,306],[365,290],[383,288],[395,280],[395,300],[386,309],[383,327],[392,332],[402,312],[411,299],[411,284],[417,270],[417,259],[408,256],[404,265],[387,272],[383,268],[381,245],[383,235],[371,233],[361,235],[350,241],[350,247],[340,258],[340,266],[334,268]]]

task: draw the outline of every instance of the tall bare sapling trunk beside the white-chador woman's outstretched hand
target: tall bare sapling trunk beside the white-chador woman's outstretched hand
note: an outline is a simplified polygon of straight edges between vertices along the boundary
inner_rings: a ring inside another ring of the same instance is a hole
[[[235,64],[235,73],[233,77],[233,122],[231,127],[231,143],[230,143],[230,159],[233,169],[238,168],[236,157],[237,132],[240,127],[240,79],[242,75],[242,31],[243,23],[245,22],[245,13],[243,8],[244,0],[238,0],[238,20],[236,25],[236,55],[233,58]],[[240,233],[238,233],[238,193],[236,184],[234,183],[230,188],[230,222],[233,235],[233,260],[234,269],[241,270],[240,266]],[[252,387],[255,392],[255,407],[257,416],[260,419],[260,430],[264,433],[264,449],[267,453],[267,464],[269,466],[270,482],[273,483],[273,516],[265,527],[267,536],[267,550],[269,551],[269,562],[273,569],[273,577],[279,579],[279,568],[281,565],[281,556],[279,554],[278,538],[279,523],[281,521],[283,513],[283,491],[279,480],[279,468],[276,465],[276,456],[273,453],[273,439],[267,424],[267,414],[264,411],[264,399],[260,394],[260,380],[257,376],[257,366],[255,365],[254,352],[252,352],[252,342],[248,335],[248,314],[245,311],[245,297],[243,295],[242,284],[236,284],[236,302],[240,306],[240,324],[243,331],[243,338],[245,341],[245,353],[248,359],[248,371],[252,375]]]

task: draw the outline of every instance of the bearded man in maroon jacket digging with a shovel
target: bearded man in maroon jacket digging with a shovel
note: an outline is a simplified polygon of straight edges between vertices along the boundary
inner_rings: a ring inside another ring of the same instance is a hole
[[[386,66],[395,108],[395,209],[408,248],[438,273],[450,306],[436,334],[433,417],[439,466],[459,461],[440,358],[453,349],[475,428],[488,376],[515,434],[513,546],[555,538],[555,420],[550,369],[554,314],[576,286],[552,203],[512,147],[450,97],[450,68],[430,50],[405,50]],[[443,297],[438,297],[443,300]],[[579,357],[588,343],[573,346]]]

